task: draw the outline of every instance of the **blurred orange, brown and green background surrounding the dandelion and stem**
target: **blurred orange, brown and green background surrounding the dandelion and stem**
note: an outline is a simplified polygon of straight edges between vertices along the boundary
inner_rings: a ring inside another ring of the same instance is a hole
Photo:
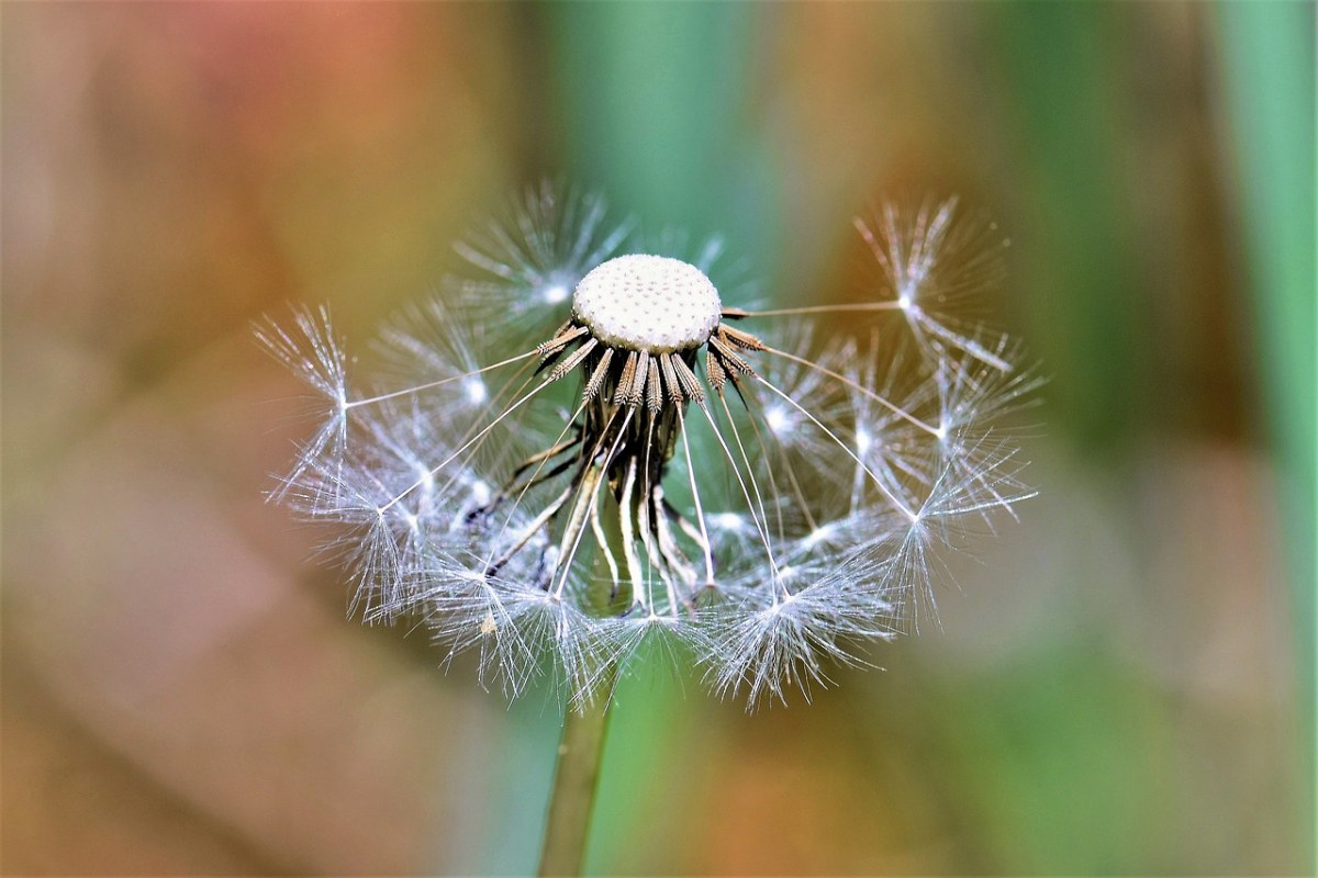
[[[619,694],[605,873],[1313,874],[1311,4],[18,4],[5,874],[519,874],[559,715],[344,620],[249,321],[365,340],[560,176],[771,296],[960,194],[1050,383],[942,629],[746,716]]]

